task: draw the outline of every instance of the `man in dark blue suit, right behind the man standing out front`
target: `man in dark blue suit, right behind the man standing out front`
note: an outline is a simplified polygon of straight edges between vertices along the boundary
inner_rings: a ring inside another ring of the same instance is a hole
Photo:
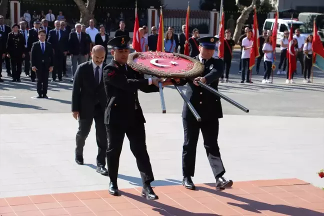
[[[54,48],[54,69],[52,72],[52,81],[56,81],[56,76],[58,76],[58,81],[62,80],[62,61],[64,56],[67,54],[67,34],[60,28],[60,22],[58,20],[54,21],[55,28],[49,31],[47,41],[50,42]]]

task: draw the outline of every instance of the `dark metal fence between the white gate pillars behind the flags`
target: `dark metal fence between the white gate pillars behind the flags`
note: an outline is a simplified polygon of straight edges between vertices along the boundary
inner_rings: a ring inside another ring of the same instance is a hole
[[[175,33],[182,32],[181,26],[185,24],[186,10],[163,10],[163,27],[167,29],[169,26],[174,27]],[[160,14],[160,12],[158,12]],[[189,29],[198,28],[200,33],[209,33],[210,11],[191,10],[189,14]],[[158,17],[159,19],[159,17]]]

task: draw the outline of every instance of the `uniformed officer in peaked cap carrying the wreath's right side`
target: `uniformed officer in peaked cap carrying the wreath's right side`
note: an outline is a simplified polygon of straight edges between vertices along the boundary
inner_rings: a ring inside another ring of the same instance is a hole
[[[185,95],[190,98],[190,102],[201,117],[198,122],[186,103],[183,105],[182,122],[184,130],[184,143],[182,149],[182,184],[185,188],[195,189],[191,180],[194,175],[196,146],[201,130],[203,145],[206,149],[207,157],[216,179],[216,189],[224,189],[232,185],[232,181],[223,177],[225,168],[220,158],[218,138],[218,118],[222,117],[220,98],[208,90],[199,86],[196,80],[200,80],[217,89],[218,80],[223,73],[223,61],[212,57],[215,50],[215,43],[219,39],[213,36],[204,36],[197,39],[199,42],[199,54],[196,60],[204,64],[202,76],[190,79],[181,79],[179,85],[187,83]]]

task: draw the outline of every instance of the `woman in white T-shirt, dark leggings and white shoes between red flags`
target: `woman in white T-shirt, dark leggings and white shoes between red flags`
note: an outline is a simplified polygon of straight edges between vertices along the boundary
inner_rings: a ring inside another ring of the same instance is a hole
[[[272,36],[268,36],[265,38],[262,51],[264,53],[263,60],[265,63],[265,72],[262,79],[262,83],[271,83],[270,75],[272,71],[272,55],[273,55]]]

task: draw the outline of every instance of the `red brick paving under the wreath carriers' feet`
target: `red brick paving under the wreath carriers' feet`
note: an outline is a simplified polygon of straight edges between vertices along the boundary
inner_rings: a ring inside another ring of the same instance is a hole
[[[299,179],[234,182],[215,191],[213,183],[158,186],[156,201],[140,197],[141,188],[0,198],[1,216],[139,216],[139,215],[324,215],[324,190]]]

